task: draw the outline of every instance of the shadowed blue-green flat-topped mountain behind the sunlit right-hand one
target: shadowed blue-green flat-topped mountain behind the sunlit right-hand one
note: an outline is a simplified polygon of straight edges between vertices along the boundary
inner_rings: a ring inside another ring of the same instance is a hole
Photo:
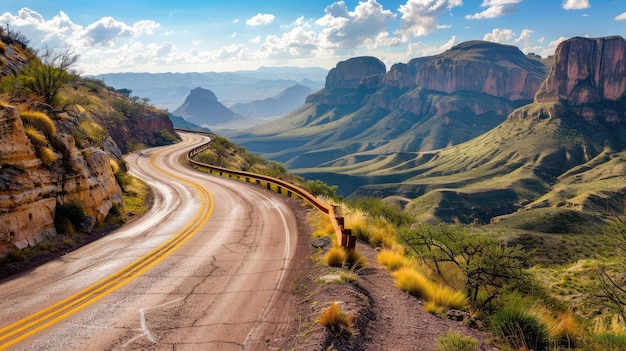
[[[532,101],[545,66],[518,48],[472,41],[395,64],[373,57],[339,62],[304,105],[237,143],[291,168],[340,165],[355,152],[427,151],[495,127]]]

